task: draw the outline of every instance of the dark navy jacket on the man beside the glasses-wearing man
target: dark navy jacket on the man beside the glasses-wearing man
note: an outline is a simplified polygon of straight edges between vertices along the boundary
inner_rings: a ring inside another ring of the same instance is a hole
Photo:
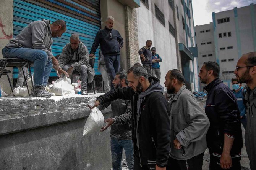
[[[234,137],[231,157],[241,155],[243,147],[240,113],[233,92],[217,78],[204,89],[208,92],[205,112],[210,121],[206,135],[210,153],[220,157],[224,144],[224,133]]]

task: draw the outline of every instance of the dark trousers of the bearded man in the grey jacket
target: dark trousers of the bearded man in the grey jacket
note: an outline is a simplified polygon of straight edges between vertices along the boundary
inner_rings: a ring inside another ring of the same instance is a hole
[[[202,170],[204,152],[188,160],[169,158],[166,170]]]

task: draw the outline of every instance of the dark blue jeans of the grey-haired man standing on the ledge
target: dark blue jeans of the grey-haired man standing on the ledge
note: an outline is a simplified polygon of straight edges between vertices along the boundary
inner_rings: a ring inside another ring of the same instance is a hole
[[[104,62],[107,67],[107,72],[111,80],[111,89],[114,89],[113,80],[115,78],[115,73],[119,71],[120,67],[120,54],[113,56],[104,56]]]

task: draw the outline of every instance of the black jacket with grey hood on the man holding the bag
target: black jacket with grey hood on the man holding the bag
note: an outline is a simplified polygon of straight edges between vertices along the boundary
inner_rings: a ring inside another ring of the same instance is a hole
[[[115,99],[131,100],[132,103],[132,135],[134,153],[138,153],[141,165],[154,165],[165,167],[170,155],[170,119],[169,106],[162,92],[154,90],[161,87],[159,79],[150,77],[151,86],[142,93],[143,97],[140,106],[137,106],[139,93],[135,93],[131,87],[114,89],[98,97],[101,104]],[[141,94],[142,94],[141,93]],[[141,108],[138,113],[137,108]],[[137,116],[139,119],[137,121]],[[137,135],[139,140],[137,139]],[[137,147],[137,140],[139,148]]]

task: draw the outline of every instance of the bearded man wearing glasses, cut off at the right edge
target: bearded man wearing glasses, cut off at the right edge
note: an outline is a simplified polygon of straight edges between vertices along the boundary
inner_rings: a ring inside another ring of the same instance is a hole
[[[237,62],[234,71],[238,83],[246,83],[245,94],[247,127],[245,147],[251,170],[256,169],[256,52],[244,54]]]

